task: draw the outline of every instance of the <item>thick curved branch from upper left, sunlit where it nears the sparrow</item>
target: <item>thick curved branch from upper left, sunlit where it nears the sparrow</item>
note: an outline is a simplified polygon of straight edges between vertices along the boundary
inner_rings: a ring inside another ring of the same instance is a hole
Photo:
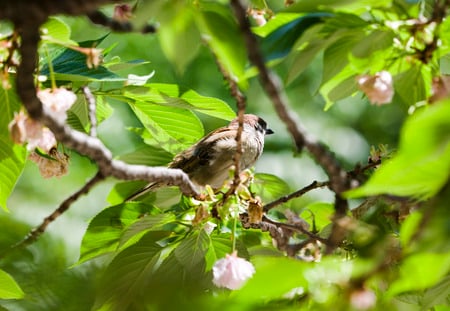
[[[98,138],[75,131],[44,111],[36,96],[33,78],[37,63],[37,46],[40,40],[40,24],[33,27],[22,26],[16,25],[22,39],[20,46],[22,61],[17,70],[17,93],[32,118],[47,126],[58,141],[95,161],[104,176],[123,180],[139,179],[148,182],[164,182],[180,187],[180,190],[186,195],[197,194],[196,187],[183,171],[166,167],[129,165],[113,160],[111,151]]]

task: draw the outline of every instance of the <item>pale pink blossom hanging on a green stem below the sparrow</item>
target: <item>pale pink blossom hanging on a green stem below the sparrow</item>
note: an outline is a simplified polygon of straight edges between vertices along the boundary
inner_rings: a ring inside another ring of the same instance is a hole
[[[213,266],[213,283],[218,287],[239,289],[254,273],[255,267],[247,260],[239,258],[235,251],[216,261]]]

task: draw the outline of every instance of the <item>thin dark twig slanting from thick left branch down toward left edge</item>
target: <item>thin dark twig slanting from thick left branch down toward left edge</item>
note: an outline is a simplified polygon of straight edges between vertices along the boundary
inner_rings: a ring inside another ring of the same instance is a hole
[[[34,228],[33,230],[28,233],[28,235],[19,243],[13,245],[11,249],[16,249],[19,247],[27,246],[33,242],[35,242],[47,229],[48,225],[55,221],[56,218],[61,216],[64,212],[66,212],[71,205],[78,200],[78,198],[84,194],[89,193],[89,191],[100,181],[102,181],[105,177],[98,172],[94,177],[91,178],[83,187],[81,187],[78,191],[73,193],[71,196],[69,196],[67,199],[65,199],[59,207],[53,211],[50,215],[44,218],[42,223]]]

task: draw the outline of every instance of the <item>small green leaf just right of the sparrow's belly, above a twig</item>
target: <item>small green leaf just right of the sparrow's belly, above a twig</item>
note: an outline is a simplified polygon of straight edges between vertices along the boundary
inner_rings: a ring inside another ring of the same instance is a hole
[[[271,174],[255,174],[255,181],[251,185],[252,192],[269,203],[289,193],[289,185],[279,177]]]

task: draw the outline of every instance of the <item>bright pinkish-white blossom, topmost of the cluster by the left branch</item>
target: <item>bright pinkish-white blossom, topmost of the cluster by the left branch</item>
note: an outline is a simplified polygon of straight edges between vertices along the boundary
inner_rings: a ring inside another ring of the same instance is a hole
[[[77,100],[77,96],[65,88],[40,90],[37,96],[41,100],[44,110],[59,122],[66,121],[67,110]]]

